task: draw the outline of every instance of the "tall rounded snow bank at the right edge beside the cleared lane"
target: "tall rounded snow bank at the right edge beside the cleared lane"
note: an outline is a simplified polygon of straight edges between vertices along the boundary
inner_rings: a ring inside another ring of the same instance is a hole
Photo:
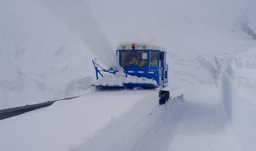
[[[256,47],[230,58],[223,68],[221,80],[224,108],[243,150],[255,150]]]

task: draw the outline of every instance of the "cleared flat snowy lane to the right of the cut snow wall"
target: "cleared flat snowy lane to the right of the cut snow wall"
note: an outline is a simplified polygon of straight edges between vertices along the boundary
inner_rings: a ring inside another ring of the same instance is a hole
[[[217,88],[188,91],[133,150],[240,150],[218,96]]]

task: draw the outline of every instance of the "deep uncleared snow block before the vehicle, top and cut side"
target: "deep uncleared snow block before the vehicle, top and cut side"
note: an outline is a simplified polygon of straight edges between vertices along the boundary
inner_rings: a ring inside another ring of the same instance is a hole
[[[157,90],[88,93],[1,120],[0,150],[131,150],[164,111]]]

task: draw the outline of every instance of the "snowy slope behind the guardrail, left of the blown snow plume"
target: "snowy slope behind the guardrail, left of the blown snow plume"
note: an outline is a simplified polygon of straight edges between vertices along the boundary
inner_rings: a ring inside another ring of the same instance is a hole
[[[90,91],[88,43],[45,2],[1,1],[0,22],[0,109]]]

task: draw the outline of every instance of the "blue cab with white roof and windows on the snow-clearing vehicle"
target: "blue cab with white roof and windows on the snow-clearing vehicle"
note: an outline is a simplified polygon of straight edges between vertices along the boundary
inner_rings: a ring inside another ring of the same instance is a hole
[[[168,65],[163,48],[140,43],[119,45],[116,49],[118,65],[124,73],[157,81],[158,86],[168,83]]]

